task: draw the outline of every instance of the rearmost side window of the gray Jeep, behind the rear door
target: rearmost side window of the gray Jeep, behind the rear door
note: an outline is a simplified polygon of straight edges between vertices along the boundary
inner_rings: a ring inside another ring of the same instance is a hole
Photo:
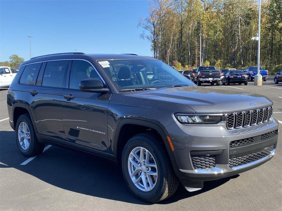
[[[29,64],[23,70],[20,77],[21,84],[35,85],[36,78],[42,63]]]

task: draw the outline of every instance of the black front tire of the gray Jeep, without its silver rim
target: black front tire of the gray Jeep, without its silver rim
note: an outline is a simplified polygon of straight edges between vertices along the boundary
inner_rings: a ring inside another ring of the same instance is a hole
[[[138,134],[126,143],[122,154],[122,171],[125,182],[130,191],[146,202],[158,202],[167,199],[177,190],[179,179],[176,177],[166,148],[154,133]],[[136,147],[144,147],[155,159],[158,178],[155,187],[150,191],[141,191],[132,182],[128,172],[128,157]]]

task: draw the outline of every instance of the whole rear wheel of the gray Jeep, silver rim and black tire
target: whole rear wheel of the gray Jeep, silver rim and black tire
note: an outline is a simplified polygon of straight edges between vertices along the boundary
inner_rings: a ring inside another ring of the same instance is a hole
[[[23,114],[19,117],[15,132],[18,148],[24,156],[32,157],[41,154],[44,150],[45,144],[37,141],[29,115]]]

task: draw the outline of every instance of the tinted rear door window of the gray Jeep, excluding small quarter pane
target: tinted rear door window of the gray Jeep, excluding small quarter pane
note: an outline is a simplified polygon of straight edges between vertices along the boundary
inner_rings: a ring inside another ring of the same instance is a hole
[[[61,88],[69,61],[49,61],[46,64],[42,86]]]

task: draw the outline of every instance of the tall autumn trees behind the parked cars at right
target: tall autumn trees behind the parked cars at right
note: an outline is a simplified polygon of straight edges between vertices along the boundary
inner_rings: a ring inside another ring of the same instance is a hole
[[[254,0],[152,0],[141,17],[140,37],[151,42],[152,56],[169,65],[202,64],[243,68],[257,64],[258,4]],[[264,68],[282,64],[282,3],[263,0],[261,54]]]

